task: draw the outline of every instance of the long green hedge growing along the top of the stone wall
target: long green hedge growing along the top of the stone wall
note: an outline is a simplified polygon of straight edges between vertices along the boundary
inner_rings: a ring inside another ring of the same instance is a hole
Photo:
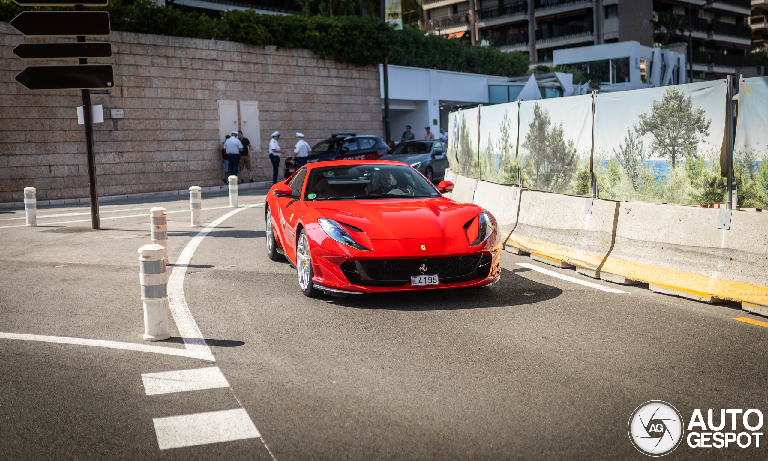
[[[0,20],[10,21],[23,10],[11,0],[0,0]],[[40,10],[72,8],[37,8]],[[427,35],[415,28],[395,31],[376,18],[299,15],[259,15],[253,10],[223,12],[214,18],[177,8],[157,7],[148,0],[124,6],[111,0],[112,30],[177,37],[238,41],[247,45],[309,48],[323,58],[353,65],[375,65],[386,52],[389,63],[447,71],[516,77],[528,71],[528,56],[495,48],[470,46],[458,38]]]

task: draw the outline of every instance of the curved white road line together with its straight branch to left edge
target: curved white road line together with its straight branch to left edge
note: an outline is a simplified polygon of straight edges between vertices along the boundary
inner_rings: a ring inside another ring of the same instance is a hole
[[[207,227],[197,233],[195,237],[184,247],[184,251],[181,252],[179,257],[179,263],[181,266],[175,266],[174,271],[170,274],[168,280],[168,301],[170,304],[170,313],[174,316],[174,322],[179,330],[182,340],[184,340],[184,349],[177,347],[164,347],[164,346],[150,346],[148,344],[141,343],[121,343],[118,341],[107,340],[91,340],[87,338],[71,338],[71,337],[53,337],[39,334],[24,334],[24,333],[0,333],[0,338],[7,340],[30,340],[30,341],[43,341],[46,343],[60,343],[60,344],[78,344],[82,346],[98,346],[98,347],[110,347],[112,349],[123,350],[136,350],[139,352],[151,352],[151,353],[164,353],[167,355],[175,355],[181,357],[191,357],[200,360],[210,360],[215,362],[214,354],[211,353],[210,347],[203,338],[203,333],[200,332],[200,328],[197,327],[197,322],[194,321],[192,313],[190,313],[187,306],[187,300],[184,299],[184,274],[187,271],[187,265],[192,260],[192,255],[197,246],[200,245],[200,241],[203,240],[214,227],[221,224],[227,217],[232,216],[246,208],[260,207],[260,204],[248,204],[243,205],[240,208],[236,208],[233,211],[223,215],[216,221],[210,223]],[[221,207],[228,208],[228,207]],[[187,211],[187,210],[184,210]],[[141,214],[146,216],[146,214]],[[91,220],[88,220],[91,221]],[[11,226],[12,227],[12,226]],[[171,285],[173,280],[174,285]],[[171,287],[173,287],[173,295],[171,295]]]

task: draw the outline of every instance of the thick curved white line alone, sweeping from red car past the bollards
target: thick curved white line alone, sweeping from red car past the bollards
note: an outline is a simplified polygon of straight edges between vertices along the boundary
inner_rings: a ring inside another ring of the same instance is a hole
[[[216,358],[214,357],[214,354],[210,352],[210,347],[208,347],[203,339],[203,333],[200,333],[200,327],[197,327],[197,322],[194,321],[190,308],[187,306],[187,299],[184,298],[184,275],[187,274],[187,266],[192,260],[194,250],[197,250],[197,246],[200,245],[200,242],[203,241],[203,238],[208,235],[211,230],[214,230],[214,227],[217,227],[233,214],[240,213],[240,211],[243,211],[246,208],[258,207],[260,205],[263,205],[263,203],[244,205],[243,207],[235,208],[233,211],[230,211],[216,221],[208,224],[203,230],[200,230],[196,236],[192,237],[192,240],[189,241],[187,246],[184,247],[184,251],[181,252],[176,260],[174,270],[170,273],[170,277],[168,278],[168,304],[170,305],[170,313],[174,316],[176,327],[179,329],[179,334],[182,339],[184,339],[184,344],[187,346],[187,350],[195,351],[200,358],[208,357],[204,360],[215,362]]]

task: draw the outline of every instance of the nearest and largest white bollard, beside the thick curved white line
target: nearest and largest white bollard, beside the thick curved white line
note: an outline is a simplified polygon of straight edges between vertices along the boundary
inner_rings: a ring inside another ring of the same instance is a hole
[[[144,340],[161,341],[168,333],[168,273],[164,263],[165,248],[151,244],[139,248],[139,283],[144,303]]]

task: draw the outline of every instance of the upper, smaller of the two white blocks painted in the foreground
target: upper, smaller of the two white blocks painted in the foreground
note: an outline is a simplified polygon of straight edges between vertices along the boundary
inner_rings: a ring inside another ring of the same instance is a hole
[[[218,366],[144,373],[141,375],[141,379],[144,380],[144,390],[147,392],[147,396],[230,386]]]

